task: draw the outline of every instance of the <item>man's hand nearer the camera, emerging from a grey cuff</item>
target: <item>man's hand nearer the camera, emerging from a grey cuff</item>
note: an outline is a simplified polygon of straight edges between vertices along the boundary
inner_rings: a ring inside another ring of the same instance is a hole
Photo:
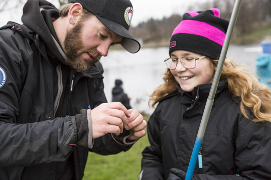
[[[120,102],[102,103],[91,110],[92,138],[107,133],[119,135],[127,126],[130,112]]]

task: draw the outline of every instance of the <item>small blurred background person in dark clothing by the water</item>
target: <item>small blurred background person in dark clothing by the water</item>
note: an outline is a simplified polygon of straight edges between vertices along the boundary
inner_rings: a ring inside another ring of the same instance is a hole
[[[123,92],[122,81],[115,80],[115,87],[112,89],[112,102],[121,102],[127,109],[130,109],[130,99],[127,94]]]

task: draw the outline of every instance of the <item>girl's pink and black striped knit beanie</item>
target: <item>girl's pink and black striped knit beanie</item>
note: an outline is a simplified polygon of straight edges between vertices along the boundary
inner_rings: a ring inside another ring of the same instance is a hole
[[[219,59],[228,24],[217,8],[186,12],[171,35],[169,54],[187,50]]]

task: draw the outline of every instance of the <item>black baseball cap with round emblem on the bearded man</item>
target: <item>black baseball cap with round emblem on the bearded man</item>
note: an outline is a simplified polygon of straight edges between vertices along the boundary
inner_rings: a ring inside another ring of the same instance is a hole
[[[129,0],[72,0],[93,13],[109,30],[123,37],[120,44],[131,53],[140,50],[140,43],[128,31],[133,14]]]

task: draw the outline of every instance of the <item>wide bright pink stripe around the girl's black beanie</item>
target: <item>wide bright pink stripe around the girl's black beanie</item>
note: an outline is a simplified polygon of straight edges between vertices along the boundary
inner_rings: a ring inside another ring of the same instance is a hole
[[[226,34],[217,27],[206,22],[197,20],[182,20],[174,29],[172,35],[176,33],[189,33],[206,37],[216,43],[223,45]]]

